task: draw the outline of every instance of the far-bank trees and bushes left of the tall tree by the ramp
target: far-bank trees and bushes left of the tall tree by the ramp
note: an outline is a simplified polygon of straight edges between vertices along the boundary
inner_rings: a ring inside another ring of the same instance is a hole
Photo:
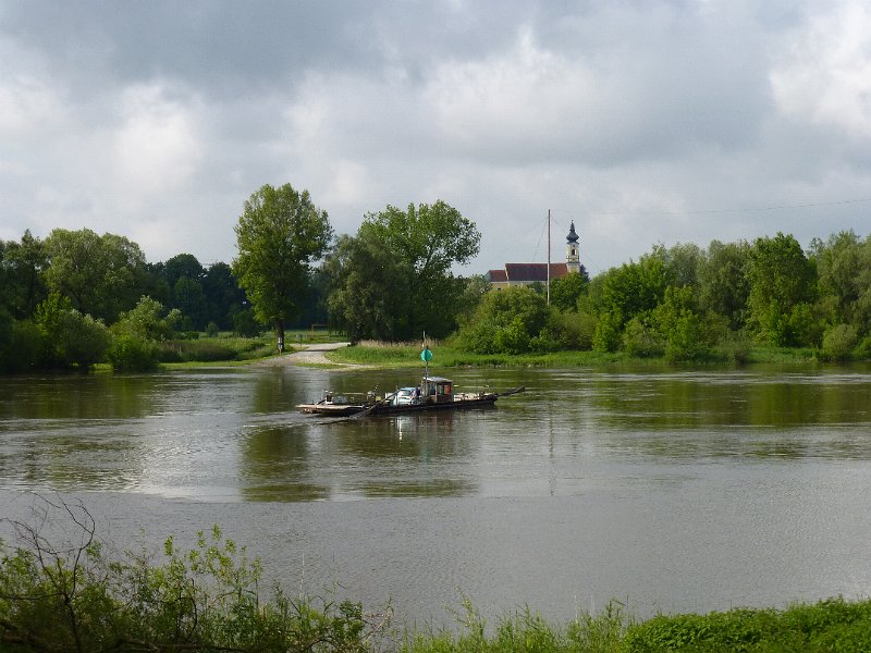
[[[0,241],[0,370],[86,368],[147,330],[250,331],[246,312],[223,262],[148,263],[136,243],[87,229]]]

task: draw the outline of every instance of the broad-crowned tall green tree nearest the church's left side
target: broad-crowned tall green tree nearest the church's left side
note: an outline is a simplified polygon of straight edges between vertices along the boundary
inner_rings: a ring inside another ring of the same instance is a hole
[[[331,261],[330,310],[353,338],[447,335],[466,288],[452,267],[477,255],[480,241],[475,223],[442,200],[369,213]]]

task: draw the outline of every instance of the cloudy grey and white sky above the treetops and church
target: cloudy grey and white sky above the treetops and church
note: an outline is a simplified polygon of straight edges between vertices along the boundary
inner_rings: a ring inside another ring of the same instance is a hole
[[[263,184],[336,234],[441,199],[464,274],[871,232],[857,0],[0,0],[0,239],[236,256]]]

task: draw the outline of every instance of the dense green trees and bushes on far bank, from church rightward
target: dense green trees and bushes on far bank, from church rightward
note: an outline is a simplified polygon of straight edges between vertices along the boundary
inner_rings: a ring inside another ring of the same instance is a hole
[[[871,237],[841,232],[802,250],[792,235],[652,250],[592,280],[490,294],[459,331],[487,353],[624,352],[668,361],[741,361],[750,347],[871,356]]]

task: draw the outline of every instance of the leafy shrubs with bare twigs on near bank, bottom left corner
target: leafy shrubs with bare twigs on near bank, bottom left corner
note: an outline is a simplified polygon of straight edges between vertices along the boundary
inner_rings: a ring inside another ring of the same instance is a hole
[[[110,559],[77,502],[41,500],[36,525],[8,521],[19,545],[0,562],[0,649],[91,651],[371,651],[388,625],[360,604],[260,596],[261,568],[218,527],[162,562],[145,550]],[[52,514],[72,523],[60,545]]]

